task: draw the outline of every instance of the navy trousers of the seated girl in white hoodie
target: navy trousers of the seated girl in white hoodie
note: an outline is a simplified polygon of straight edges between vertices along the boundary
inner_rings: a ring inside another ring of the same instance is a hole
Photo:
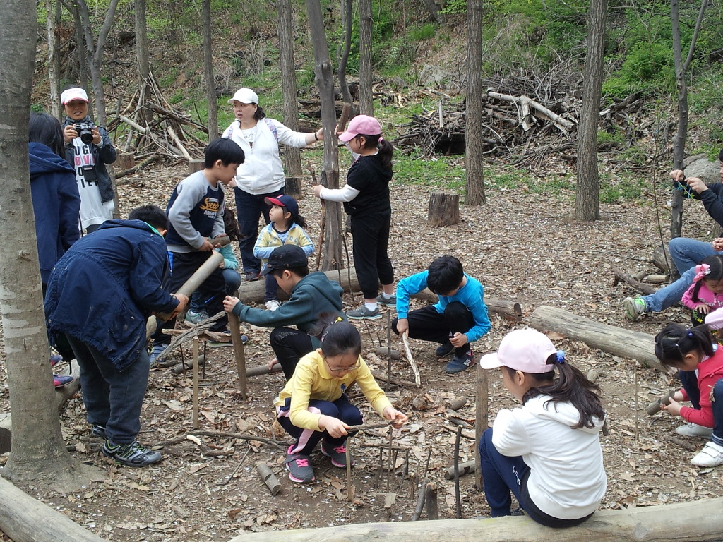
[[[492,428],[485,430],[479,440],[479,457],[482,467],[482,483],[484,496],[492,511],[492,517],[512,514],[512,496],[514,494],[520,507],[527,515],[541,525],[547,527],[572,527],[587,520],[592,514],[576,520],[560,520],[560,518],[542,512],[530,499],[527,491],[529,466],[521,456],[508,457],[500,454],[492,444]]]

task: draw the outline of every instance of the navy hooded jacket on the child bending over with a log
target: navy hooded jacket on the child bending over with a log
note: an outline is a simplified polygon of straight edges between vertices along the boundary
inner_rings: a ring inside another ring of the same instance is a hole
[[[167,272],[166,241],[150,225],[106,220],[77,241],[51,272],[48,331],[82,340],[122,371],[145,348],[147,317],[178,305],[161,289]]]

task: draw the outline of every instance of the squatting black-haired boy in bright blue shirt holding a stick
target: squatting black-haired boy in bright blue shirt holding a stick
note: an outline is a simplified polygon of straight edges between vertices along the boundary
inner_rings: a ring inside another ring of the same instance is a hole
[[[429,288],[439,296],[436,304],[409,312],[409,298]],[[429,268],[403,278],[397,285],[397,318],[392,330],[401,335],[440,343],[435,354],[440,358],[454,353],[445,367],[448,373],[460,373],[474,365],[474,343],[491,327],[484,304],[484,288],[467,275],[462,263],[453,256],[440,256]]]

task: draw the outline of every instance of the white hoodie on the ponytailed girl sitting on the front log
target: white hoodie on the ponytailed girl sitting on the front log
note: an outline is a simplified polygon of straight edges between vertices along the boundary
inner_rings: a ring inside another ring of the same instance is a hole
[[[521,408],[500,410],[492,444],[508,457],[522,456],[530,468],[527,489],[536,506],[561,520],[576,520],[594,512],[607,488],[599,432],[573,429],[580,413],[570,403],[545,402],[539,395]]]

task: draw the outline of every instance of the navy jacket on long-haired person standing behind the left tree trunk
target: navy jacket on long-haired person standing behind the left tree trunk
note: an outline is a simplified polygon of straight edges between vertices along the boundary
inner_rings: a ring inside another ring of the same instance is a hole
[[[80,195],[75,171],[64,158],[42,143],[28,143],[27,152],[40,279],[47,284],[53,266],[80,238]]]

